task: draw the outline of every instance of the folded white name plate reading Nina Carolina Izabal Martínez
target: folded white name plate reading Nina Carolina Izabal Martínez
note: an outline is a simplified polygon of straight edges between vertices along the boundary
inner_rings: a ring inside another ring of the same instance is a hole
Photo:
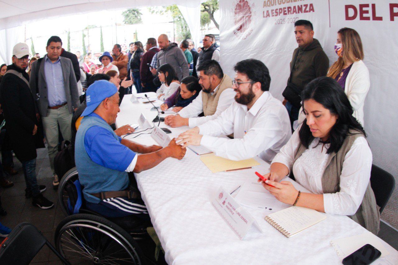
[[[211,204],[240,240],[244,239],[252,224],[261,233],[263,232],[253,216],[222,187],[217,191],[217,197],[211,201]]]

